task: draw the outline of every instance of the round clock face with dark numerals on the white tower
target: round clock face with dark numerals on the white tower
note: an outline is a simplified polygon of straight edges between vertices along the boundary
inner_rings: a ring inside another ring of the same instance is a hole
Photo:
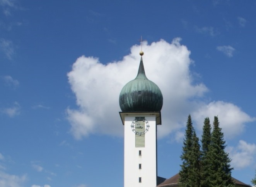
[[[145,117],[135,117],[135,119],[131,122],[131,130],[138,135],[142,135],[147,133],[149,129],[148,121]]]

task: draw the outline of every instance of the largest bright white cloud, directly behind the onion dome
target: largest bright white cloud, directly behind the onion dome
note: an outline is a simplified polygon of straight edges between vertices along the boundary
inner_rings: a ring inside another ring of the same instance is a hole
[[[146,75],[159,86],[164,97],[162,125],[158,127],[159,137],[179,131],[186,125],[189,113],[196,115],[196,112],[200,112],[198,109],[210,106],[200,101],[208,89],[203,83],[193,82],[189,70],[193,63],[189,58],[190,51],[180,41],[181,39],[176,38],[171,43],[164,40],[152,44],[143,42]],[[121,61],[106,65],[94,57],[81,56],[75,61],[72,71],[68,73],[68,81],[79,108],[67,108],[67,118],[71,124],[70,131],[76,139],[93,133],[123,136],[123,125],[118,114],[119,93],[137,75],[139,51],[140,46],[132,46],[131,53]],[[220,110],[226,108],[222,107]],[[241,109],[235,111],[238,116],[246,115]],[[214,115],[218,114],[212,114]],[[243,126],[252,120],[247,115],[239,121],[239,125]],[[225,121],[221,123],[225,124]],[[177,134],[178,139],[179,137],[180,134]]]

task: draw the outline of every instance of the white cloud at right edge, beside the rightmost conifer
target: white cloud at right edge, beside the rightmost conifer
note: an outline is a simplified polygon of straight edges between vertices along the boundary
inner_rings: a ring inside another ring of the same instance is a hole
[[[231,166],[235,169],[242,169],[255,163],[256,145],[240,140],[236,147],[227,147],[229,156],[232,159]]]

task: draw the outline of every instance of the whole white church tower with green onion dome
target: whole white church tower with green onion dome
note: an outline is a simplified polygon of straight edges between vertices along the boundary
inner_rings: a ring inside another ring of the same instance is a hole
[[[143,54],[137,77],[119,96],[125,128],[124,187],[157,186],[157,125],[161,124],[163,96],[145,75]]]

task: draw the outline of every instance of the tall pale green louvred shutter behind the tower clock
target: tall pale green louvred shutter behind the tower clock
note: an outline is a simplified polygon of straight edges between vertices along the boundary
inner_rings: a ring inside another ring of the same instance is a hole
[[[145,147],[145,121],[138,119],[135,122],[135,130],[135,147]]]

